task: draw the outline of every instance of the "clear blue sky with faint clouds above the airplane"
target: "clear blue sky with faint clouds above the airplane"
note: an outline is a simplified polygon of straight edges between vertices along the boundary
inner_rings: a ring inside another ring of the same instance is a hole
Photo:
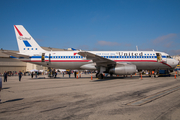
[[[0,48],[18,50],[13,25],[42,47],[180,54],[180,0],[0,0]]]

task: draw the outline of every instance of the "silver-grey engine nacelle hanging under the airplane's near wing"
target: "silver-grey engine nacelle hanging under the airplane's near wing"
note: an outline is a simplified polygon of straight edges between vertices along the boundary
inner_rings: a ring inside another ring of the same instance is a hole
[[[109,73],[116,75],[131,75],[136,73],[136,66],[129,64],[116,65],[116,67],[109,70]]]

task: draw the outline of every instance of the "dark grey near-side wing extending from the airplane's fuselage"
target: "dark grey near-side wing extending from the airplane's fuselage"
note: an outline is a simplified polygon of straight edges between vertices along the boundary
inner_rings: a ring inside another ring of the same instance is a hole
[[[87,59],[91,59],[93,62],[95,62],[97,65],[107,66],[107,65],[115,65],[116,62],[107,58],[103,58],[99,55],[95,55],[90,52],[78,52],[79,55],[86,57]]]

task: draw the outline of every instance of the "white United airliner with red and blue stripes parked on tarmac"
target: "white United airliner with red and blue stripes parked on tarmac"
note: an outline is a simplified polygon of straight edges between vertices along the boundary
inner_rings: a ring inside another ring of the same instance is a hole
[[[19,53],[4,51],[12,58],[57,69],[97,70],[103,73],[132,75],[137,70],[171,70],[179,61],[159,51],[46,51],[22,25],[14,25]]]

